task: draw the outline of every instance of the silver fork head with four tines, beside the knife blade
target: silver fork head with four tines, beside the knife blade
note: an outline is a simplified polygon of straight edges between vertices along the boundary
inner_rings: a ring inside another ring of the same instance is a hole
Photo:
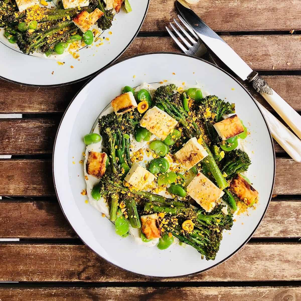
[[[172,37],[172,39],[175,41],[175,43],[178,45],[178,47],[185,53],[189,55],[193,55],[196,57],[201,57],[206,61],[210,61],[211,63],[216,65],[216,62],[214,61],[213,57],[209,53],[207,47],[204,45],[204,43],[198,38],[198,36],[194,33],[194,30],[186,23],[186,21],[178,15],[179,20],[182,22],[182,24],[186,27],[186,29],[191,33],[191,35],[195,38],[193,39],[189,33],[183,28],[183,26],[176,20],[173,19],[175,24],[178,26],[178,29],[184,34],[184,36],[179,32],[179,30],[170,22],[169,25],[171,28],[175,31],[176,35],[181,39],[181,41],[184,43],[186,47],[184,47],[183,44],[179,42],[177,37],[171,32],[171,30],[165,26],[167,32]],[[187,41],[189,40],[189,42]]]

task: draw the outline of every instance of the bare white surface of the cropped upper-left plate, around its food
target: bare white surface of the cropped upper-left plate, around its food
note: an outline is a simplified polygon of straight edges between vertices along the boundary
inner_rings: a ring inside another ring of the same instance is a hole
[[[104,40],[103,45],[96,46],[101,42],[98,41],[92,47],[82,48],[79,50],[80,61],[74,59],[71,54],[61,58],[57,55],[57,60],[36,57],[34,54],[26,55],[20,52],[17,44],[10,44],[7,39],[0,38],[0,77],[23,85],[57,86],[93,75],[123,54],[138,34],[147,13],[149,0],[132,0],[130,3],[132,12],[127,14],[121,8],[114,17],[116,20],[113,20],[112,27],[101,34],[101,37],[109,38],[110,41]],[[0,35],[4,35],[3,29]],[[57,61],[65,64],[59,65]]]

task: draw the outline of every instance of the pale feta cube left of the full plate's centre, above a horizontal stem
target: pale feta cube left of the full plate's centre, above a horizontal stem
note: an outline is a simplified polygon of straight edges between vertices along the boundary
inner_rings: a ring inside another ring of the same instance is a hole
[[[135,188],[143,190],[145,186],[152,185],[155,178],[151,172],[135,162],[124,179]]]

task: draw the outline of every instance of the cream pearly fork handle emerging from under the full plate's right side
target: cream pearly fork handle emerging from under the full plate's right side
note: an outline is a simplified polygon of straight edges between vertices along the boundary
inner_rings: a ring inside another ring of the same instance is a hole
[[[280,96],[279,96],[280,97]],[[256,101],[268,123],[273,138],[284,151],[297,162],[301,162],[301,140],[284,126],[272,113]]]

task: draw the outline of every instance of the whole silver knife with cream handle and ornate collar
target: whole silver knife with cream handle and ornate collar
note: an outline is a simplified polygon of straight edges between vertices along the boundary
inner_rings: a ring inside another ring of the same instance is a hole
[[[242,80],[250,82],[253,88],[265,98],[301,139],[301,116],[256,71],[252,70],[222,38],[207,26],[184,1],[177,0],[176,6],[203,43]]]

